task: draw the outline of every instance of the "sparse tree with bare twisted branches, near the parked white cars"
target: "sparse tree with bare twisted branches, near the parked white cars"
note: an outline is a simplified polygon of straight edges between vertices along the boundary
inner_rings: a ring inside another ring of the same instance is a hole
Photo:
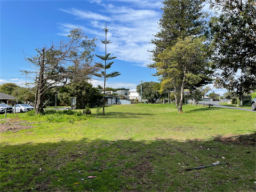
[[[68,39],[38,48],[36,55],[25,56],[31,70],[21,72],[32,79],[36,87],[36,114],[43,112],[47,91],[53,90],[52,97],[59,87],[83,81],[98,72],[98,67],[92,62],[96,40],[89,39],[81,29],[73,29]]]

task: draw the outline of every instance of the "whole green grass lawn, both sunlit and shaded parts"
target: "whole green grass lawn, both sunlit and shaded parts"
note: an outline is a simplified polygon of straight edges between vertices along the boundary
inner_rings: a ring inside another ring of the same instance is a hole
[[[173,104],[138,104],[95,117],[91,110],[65,122],[18,114],[37,123],[0,133],[0,191],[256,190],[251,111],[186,105],[178,114]],[[217,161],[229,164],[184,171]]]

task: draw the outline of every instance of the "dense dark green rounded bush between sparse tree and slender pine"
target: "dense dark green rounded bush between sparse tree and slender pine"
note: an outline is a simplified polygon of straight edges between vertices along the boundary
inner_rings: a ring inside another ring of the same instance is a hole
[[[76,97],[77,108],[84,108],[86,103],[99,106],[102,98],[100,90],[85,81],[61,87],[58,96],[62,103],[68,105],[70,105],[71,97]]]

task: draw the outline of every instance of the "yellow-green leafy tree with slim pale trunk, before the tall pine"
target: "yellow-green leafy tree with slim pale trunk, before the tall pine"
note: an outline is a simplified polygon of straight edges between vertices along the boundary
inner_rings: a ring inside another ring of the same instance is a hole
[[[210,63],[205,57],[207,46],[203,38],[193,36],[185,39],[178,38],[178,42],[158,55],[157,75],[162,80],[162,89],[172,87],[175,94],[175,104],[179,113],[182,111],[183,91],[185,87],[193,87],[209,78]]]

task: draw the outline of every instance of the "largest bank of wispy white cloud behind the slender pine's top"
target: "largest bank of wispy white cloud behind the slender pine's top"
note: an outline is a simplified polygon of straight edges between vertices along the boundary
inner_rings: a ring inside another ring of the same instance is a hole
[[[140,1],[134,1],[133,3],[138,4],[139,2]],[[147,3],[148,1],[143,2]],[[108,13],[108,19],[110,21],[107,23],[107,28],[109,28],[107,39],[110,39],[112,43],[108,44],[107,52],[111,52],[118,60],[133,62],[132,65],[145,67],[149,64],[151,61],[148,59],[148,51],[154,49],[154,45],[149,42],[158,31],[157,22],[161,18],[160,10],[132,9],[126,6],[105,4],[102,3],[102,1],[91,1],[91,3],[108,7],[108,9],[102,10]],[[87,11],[79,11],[77,9],[72,10],[73,12],[69,13],[76,15],[80,19],[84,19],[84,14],[81,14],[81,12],[88,13]],[[94,15],[94,13],[92,14]],[[89,16],[87,15],[87,17]],[[105,28],[105,22],[94,18],[86,24],[89,25],[90,28],[82,26],[85,34],[97,36],[99,40],[105,39],[105,33],[102,31],[102,29]],[[69,23],[59,24],[59,26],[61,30],[65,32],[59,33],[59,35],[67,35],[71,28],[78,27],[77,25]],[[97,46],[100,51],[103,52],[105,50],[105,45],[100,43],[100,41],[97,43]]]

